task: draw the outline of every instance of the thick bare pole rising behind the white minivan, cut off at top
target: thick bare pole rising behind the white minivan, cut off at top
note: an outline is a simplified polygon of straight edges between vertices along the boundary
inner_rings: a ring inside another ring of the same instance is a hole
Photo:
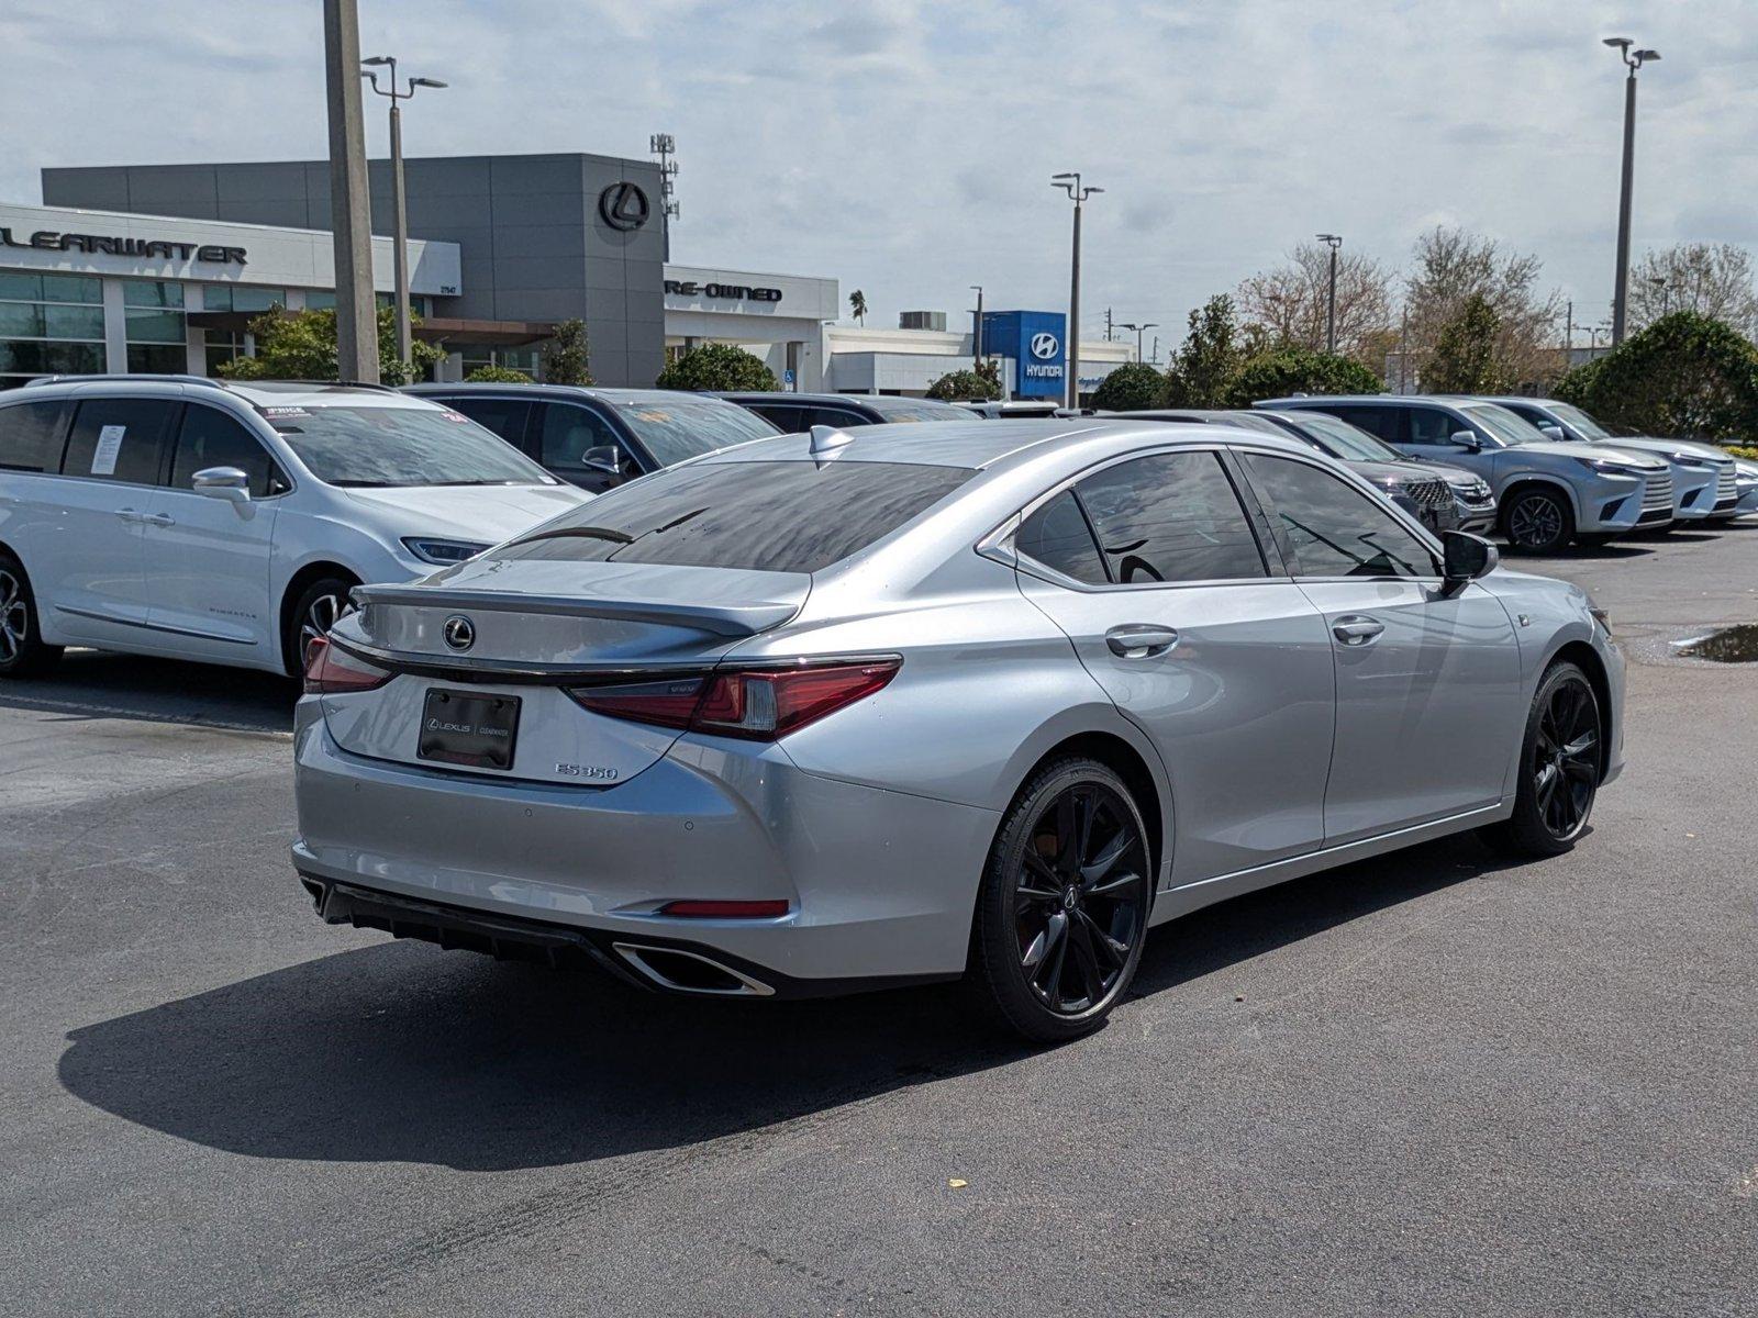
[[[336,243],[336,367],[343,380],[376,385],[378,306],[373,299],[373,221],[355,0],[323,0],[323,81],[329,90],[331,232]]]

